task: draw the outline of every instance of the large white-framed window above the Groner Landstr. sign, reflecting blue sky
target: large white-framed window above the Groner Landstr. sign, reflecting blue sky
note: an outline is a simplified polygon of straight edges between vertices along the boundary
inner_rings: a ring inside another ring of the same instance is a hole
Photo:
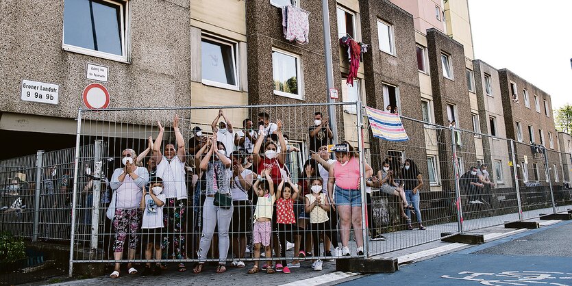
[[[64,1],[63,49],[127,61],[128,1]]]

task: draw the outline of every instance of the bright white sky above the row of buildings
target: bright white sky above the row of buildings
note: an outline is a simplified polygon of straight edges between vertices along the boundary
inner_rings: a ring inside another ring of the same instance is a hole
[[[572,104],[572,0],[469,0],[475,59]]]

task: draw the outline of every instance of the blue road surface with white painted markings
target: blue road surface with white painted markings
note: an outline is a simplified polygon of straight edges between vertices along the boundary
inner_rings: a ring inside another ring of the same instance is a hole
[[[572,221],[343,285],[572,285]]]

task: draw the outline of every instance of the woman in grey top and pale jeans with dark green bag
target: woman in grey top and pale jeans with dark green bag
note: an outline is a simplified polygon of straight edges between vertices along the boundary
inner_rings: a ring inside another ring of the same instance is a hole
[[[210,145],[210,146],[209,146]],[[225,209],[214,205],[214,195],[219,192],[227,196],[231,195],[229,186],[229,168],[232,161],[226,157],[225,144],[216,141],[216,133],[212,135],[212,141],[203,146],[197,155],[202,155],[206,148],[208,153],[201,159],[201,171],[206,172],[207,189],[205,203],[203,204],[203,230],[199,242],[199,263],[193,268],[193,272],[200,273],[207,258],[210,242],[214,234],[214,228],[218,224],[219,229],[219,267],[216,273],[226,272],[226,259],[229,248],[228,229],[232,218],[232,205]]]

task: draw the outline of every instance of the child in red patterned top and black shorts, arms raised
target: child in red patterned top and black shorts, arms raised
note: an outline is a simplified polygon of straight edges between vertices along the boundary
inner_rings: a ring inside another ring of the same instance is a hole
[[[300,248],[300,236],[303,235],[303,229],[299,229],[296,224],[296,216],[294,215],[294,201],[298,197],[298,185],[292,183],[290,179],[285,179],[278,185],[276,193],[278,200],[276,201],[276,225],[278,229],[278,237],[280,240],[280,256],[286,257],[286,241],[295,244],[294,253],[295,258],[292,265],[300,265],[298,261],[298,251]],[[299,235],[301,234],[301,235]],[[305,239],[301,239],[304,241]],[[283,271],[290,273],[290,268],[286,264],[286,259],[282,259],[276,264],[276,271]]]

